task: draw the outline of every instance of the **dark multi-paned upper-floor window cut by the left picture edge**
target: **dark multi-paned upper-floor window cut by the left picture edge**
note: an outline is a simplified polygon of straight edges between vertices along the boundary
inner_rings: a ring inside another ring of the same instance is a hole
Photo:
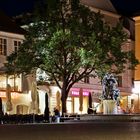
[[[7,55],[7,40],[0,38],[0,55]]]

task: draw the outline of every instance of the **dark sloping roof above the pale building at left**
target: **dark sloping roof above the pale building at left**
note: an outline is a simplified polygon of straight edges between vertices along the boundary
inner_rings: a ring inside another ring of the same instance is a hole
[[[16,25],[16,23],[0,11],[0,31],[25,34],[25,30]]]

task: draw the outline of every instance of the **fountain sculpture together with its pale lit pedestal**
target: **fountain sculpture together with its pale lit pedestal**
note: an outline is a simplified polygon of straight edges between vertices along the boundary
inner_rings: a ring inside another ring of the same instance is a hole
[[[120,91],[113,74],[107,73],[102,79],[103,114],[118,114]]]

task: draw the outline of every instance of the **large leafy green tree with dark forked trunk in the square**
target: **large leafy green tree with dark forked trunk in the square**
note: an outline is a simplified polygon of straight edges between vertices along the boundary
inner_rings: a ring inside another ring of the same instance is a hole
[[[122,50],[127,35],[121,24],[111,27],[79,0],[47,0],[39,7],[7,67],[9,72],[24,74],[44,70],[61,89],[63,113],[76,82],[105,72],[120,73],[138,63],[133,51]]]

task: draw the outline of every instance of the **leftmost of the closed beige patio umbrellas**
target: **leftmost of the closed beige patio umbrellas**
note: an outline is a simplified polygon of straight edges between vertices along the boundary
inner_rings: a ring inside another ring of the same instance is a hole
[[[7,98],[6,110],[11,111],[13,107],[12,107],[12,102],[11,102],[11,86],[9,84],[7,84],[7,87],[6,87],[6,98]]]

